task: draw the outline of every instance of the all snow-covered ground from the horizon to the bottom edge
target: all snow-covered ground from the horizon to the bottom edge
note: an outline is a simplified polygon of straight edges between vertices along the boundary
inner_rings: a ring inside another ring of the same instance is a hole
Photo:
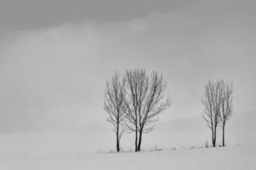
[[[123,136],[124,152],[110,153],[115,137],[105,128],[2,133],[0,169],[255,169],[255,122],[255,113],[234,115],[226,129],[228,146],[215,149],[202,148],[206,140],[210,144],[210,132],[200,117],[159,122],[145,134],[140,153],[130,152],[133,134]],[[155,147],[162,150],[151,151]]]

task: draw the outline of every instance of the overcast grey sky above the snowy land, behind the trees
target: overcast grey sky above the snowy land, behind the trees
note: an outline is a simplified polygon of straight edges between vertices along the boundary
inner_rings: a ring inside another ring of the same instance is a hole
[[[201,116],[209,79],[255,111],[256,4],[214,0],[0,0],[0,131],[105,123],[114,71],[160,71],[173,105]],[[98,121],[97,121],[98,120]]]

